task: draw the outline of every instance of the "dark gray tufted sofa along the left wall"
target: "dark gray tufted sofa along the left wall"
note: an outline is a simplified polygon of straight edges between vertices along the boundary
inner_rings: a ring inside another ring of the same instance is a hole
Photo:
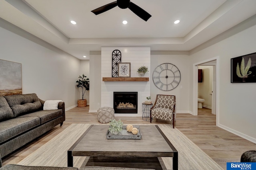
[[[0,96],[0,155],[2,157],[65,121],[65,104],[43,110],[36,94]]]

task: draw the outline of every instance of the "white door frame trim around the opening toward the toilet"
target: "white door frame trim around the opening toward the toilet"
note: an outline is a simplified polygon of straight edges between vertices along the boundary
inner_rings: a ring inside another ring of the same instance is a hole
[[[214,81],[212,90],[212,111],[216,114],[216,126],[219,123],[219,57],[214,57],[199,63],[193,64],[193,115],[198,115],[198,66],[214,66]]]

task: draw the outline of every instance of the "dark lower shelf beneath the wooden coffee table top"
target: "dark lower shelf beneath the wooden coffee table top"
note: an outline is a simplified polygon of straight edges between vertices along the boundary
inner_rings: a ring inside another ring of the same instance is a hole
[[[162,158],[159,157],[104,157],[88,156],[82,164],[84,166],[104,166],[119,168],[146,168],[154,170],[166,170]]]

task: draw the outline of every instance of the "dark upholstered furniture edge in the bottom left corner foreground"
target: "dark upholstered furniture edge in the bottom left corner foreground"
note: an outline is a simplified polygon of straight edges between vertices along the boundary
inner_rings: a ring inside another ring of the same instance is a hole
[[[0,168],[0,170],[78,170],[74,167],[53,167],[53,166],[24,166],[8,164]]]

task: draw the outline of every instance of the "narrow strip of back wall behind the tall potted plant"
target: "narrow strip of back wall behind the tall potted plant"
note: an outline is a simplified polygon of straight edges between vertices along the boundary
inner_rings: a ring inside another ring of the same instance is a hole
[[[90,60],[81,60],[80,61],[80,76],[84,74],[86,78],[89,78],[90,81]],[[78,80],[78,76],[77,76]],[[89,82],[90,83],[90,82]],[[82,88],[79,88],[80,91],[80,99],[82,99]],[[88,105],[90,105],[90,90],[86,90],[84,93],[84,99],[86,99],[86,102]]]

